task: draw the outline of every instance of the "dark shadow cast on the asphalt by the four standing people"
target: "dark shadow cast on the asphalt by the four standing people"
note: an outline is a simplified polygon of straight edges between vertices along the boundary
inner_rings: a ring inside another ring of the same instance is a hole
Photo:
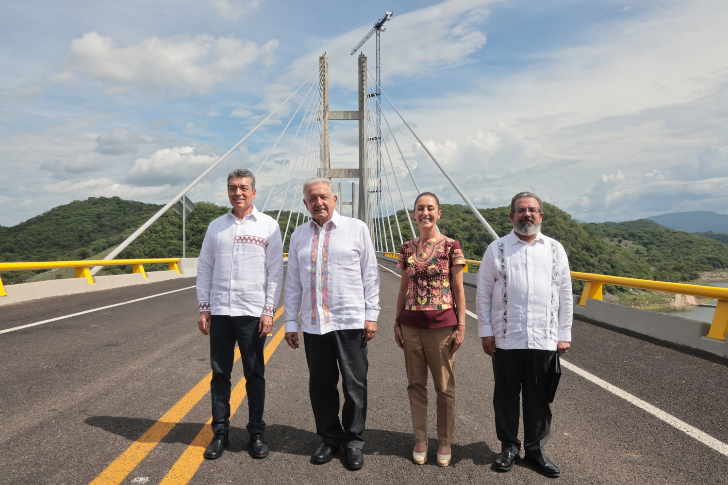
[[[130,441],[137,441],[149,428],[154,425],[154,420],[139,417],[122,416],[90,416],[85,420],[87,425],[95,426],[123,436]],[[199,430],[207,426],[199,422],[182,422],[177,425],[167,423],[173,428],[162,438],[162,443],[190,444]],[[248,451],[248,431],[245,428],[236,426],[230,427],[230,445],[227,452],[239,453]],[[365,454],[379,454],[384,456],[397,456],[405,460],[411,460],[414,436],[412,433],[400,431],[368,429],[363,434],[366,443]],[[316,433],[309,430],[294,428],[289,425],[268,425],[265,433],[266,441],[272,452],[298,454],[303,456],[311,455],[321,443]],[[438,448],[438,440],[430,438],[428,444],[430,452],[434,453]],[[472,460],[476,465],[488,465],[492,463],[496,452],[484,442],[469,444],[453,444],[453,462],[460,460]]]

